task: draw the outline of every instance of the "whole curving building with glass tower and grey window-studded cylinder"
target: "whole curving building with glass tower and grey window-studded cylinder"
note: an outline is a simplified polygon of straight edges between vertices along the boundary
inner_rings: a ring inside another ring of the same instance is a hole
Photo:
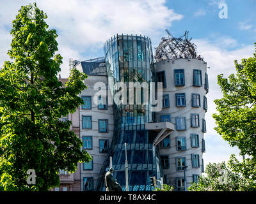
[[[73,64],[88,75],[79,132],[93,160],[79,169],[82,191],[104,191],[110,166],[125,191],[125,143],[129,191],[152,191],[150,177],[186,191],[204,171],[207,64],[188,33],[168,34],[155,57],[150,38],[122,34],[106,41],[104,57]],[[161,85],[152,89],[153,82]],[[156,112],[151,102],[160,89]]]

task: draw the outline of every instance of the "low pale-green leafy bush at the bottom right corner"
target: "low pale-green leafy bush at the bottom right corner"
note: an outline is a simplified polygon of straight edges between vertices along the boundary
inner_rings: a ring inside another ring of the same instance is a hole
[[[252,159],[239,163],[232,154],[227,164],[207,164],[205,173],[188,191],[256,191],[256,163]]]

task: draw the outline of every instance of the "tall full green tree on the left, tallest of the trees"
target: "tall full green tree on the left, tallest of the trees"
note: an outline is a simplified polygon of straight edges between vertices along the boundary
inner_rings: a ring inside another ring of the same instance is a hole
[[[77,162],[92,159],[71,122],[60,120],[83,104],[79,93],[87,76],[72,69],[63,87],[58,35],[45,18],[30,4],[13,20],[12,61],[0,70],[0,191],[47,191],[60,184],[60,169],[74,172]],[[29,169],[36,172],[35,185],[26,182]]]

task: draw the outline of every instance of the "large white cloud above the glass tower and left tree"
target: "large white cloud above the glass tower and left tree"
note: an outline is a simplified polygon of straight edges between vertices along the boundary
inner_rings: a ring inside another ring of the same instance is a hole
[[[116,33],[141,34],[149,36],[152,41],[159,40],[166,27],[183,17],[168,9],[163,0],[34,1],[47,13],[47,23],[59,35],[60,54],[65,57],[61,66],[63,77],[68,76],[68,58],[80,57],[78,60],[84,60],[92,55],[99,57],[103,43]],[[28,3],[33,1],[1,1],[1,25],[11,25],[20,6]]]

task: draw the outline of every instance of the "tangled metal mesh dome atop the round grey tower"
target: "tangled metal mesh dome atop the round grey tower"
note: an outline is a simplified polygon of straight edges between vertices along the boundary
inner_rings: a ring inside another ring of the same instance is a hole
[[[180,38],[174,38],[168,29],[168,38],[161,38],[161,43],[156,48],[155,59],[157,62],[178,59],[178,58],[196,58],[196,45],[191,43],[192,38],[188,39],[188,31]]]

